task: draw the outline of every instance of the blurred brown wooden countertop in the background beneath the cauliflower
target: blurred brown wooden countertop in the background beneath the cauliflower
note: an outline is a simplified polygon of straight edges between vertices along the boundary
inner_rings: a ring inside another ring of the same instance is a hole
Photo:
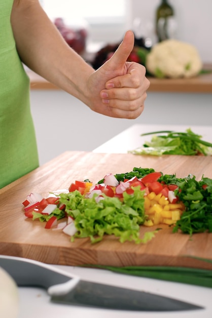
[[[190,79],[158,79],[149,77],[150,88],[148,91],[212,93],[212,65],[207,65],[204,69],[211,70],[211,73]],[[30,78],[31,89],[59,89],[30,70],[27,70],[27,74]]]

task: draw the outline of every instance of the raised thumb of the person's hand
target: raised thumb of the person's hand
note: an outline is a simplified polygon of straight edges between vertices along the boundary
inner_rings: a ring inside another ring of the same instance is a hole
[[[119,45],[118,49],[115,51],[113,56],[110,58],[110,67],[122,67],[126,62],[129,54],[134,47],[134,34],[132,31],[126,31],[122,43]]]

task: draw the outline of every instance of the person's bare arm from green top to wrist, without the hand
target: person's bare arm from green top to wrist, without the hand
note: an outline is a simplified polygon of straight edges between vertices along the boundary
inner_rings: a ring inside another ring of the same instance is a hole
[[[39,2],[15,2],[11,23],[23,63],[88,104],[86,81],[94,70],[65,43]]]

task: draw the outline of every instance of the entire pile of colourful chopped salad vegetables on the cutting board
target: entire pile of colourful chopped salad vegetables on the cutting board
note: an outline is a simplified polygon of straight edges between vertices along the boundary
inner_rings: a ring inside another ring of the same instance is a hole
[[[93,184],[76,180],[62,193],[43,198],[31,193],[23,201],[24,214],[75,238],[99,242],[115,235],[120,242],[146,243],[157,230],[140,238],[140,227],[172,226],[192,235],[212,232],[212,179],[176,178],[149,168],[111,173]]]

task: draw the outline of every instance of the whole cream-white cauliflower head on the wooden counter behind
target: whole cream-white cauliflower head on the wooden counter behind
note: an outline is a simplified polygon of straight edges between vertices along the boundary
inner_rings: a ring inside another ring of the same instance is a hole
[[[154,45],[147,55],[146,68],[160,78],[189,78],[201,71],[202,62],[193,45],[170,39]]]

